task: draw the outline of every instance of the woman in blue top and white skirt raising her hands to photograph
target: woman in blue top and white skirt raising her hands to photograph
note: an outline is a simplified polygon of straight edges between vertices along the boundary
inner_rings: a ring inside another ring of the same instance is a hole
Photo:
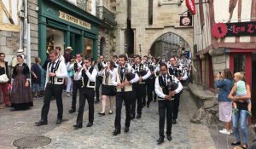
[[[219,120],[225,123],[225,129],[219,130],[220,133],[230,135],[231,117],[232,117],[232,100],[228,98],[234,81],[230,69],[224,69],[224,72],[218,73],[215,85],[218,90],[218,109]]]

